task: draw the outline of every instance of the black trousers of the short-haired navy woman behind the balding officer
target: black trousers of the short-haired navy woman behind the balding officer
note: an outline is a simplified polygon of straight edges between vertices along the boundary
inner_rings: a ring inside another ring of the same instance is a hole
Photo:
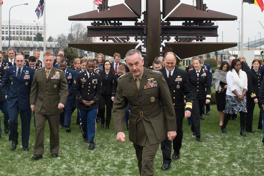
[[[191,130],[195,131],[196,136],[201,136],[200,132],[200,115],[202,114],[202,109],[204,107],[205,99],[192,100],[192,126]]]

